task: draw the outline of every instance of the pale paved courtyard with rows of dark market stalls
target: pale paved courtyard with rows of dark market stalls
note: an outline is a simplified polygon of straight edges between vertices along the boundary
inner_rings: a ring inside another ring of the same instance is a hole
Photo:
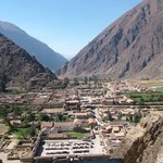
[[[38,156],[59,156],[59,155],[104,155],[106,151],[100,143],[100,138],[83,140],[45,140],[42,152]]]

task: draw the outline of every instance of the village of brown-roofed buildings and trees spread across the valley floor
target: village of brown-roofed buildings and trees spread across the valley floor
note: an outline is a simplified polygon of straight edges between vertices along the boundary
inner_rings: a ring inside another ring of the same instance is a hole
[[[0,159],[7,163],[109,159],[128,130],[150,113],[125,93],[152,91],[120,80],[2,93]]]

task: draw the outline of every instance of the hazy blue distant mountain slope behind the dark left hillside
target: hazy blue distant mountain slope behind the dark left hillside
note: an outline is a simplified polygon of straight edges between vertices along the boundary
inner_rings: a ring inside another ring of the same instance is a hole
[[[47,45],[30,37],[13,24],[0,22],[0,33],[25,49],[32,57],[34,55],[38,62],[51,71],[59,68],[67,61]]]

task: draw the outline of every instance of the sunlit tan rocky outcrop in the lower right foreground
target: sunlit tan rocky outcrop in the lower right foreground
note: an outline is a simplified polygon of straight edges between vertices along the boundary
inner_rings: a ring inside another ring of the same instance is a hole
[[[128,131],[112,158],[121,158],[124,163],[158,163],[159,159],[163,162],[162,148],[163,112],[152,112]]]

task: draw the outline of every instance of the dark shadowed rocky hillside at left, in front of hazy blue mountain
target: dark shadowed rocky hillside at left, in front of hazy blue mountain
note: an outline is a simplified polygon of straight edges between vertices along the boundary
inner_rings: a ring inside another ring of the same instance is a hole
[[[34,57],[0,34],[0,76],[4,76],[8,84],[23,84],[29,88],[42,87],[58,79]]]

